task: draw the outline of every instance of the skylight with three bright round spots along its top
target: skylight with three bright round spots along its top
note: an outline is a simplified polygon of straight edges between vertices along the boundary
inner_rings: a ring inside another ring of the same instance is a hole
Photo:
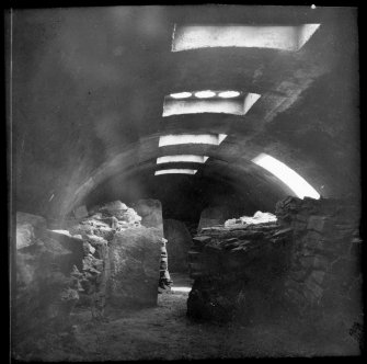
[[[195,91],[187,92],[193,96],[185,100],[165,96],[163,103],[163,117],[183,114],[223,113],[244,115],[260,99],[257,93],[240,91]]]

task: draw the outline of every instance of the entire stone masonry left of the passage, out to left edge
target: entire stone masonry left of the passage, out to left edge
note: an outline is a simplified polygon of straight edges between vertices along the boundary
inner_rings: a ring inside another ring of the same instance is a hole
[[[105,308],[157,304],[162,248],[162,220],[150,206],[150,226],[141,225],[135,209],[119,201],[74,211],[55,229],[41,216],[16,214],[16,297],[14,352],[34,355],[43,334],[72,334],[76,307],[104,319]],[[152,206],[152,207],[151,207]],[[149,208],[145,207],[145,212]],[[152,225],[158,225],[154,227]],[[167,263],[165,252],[165,263]],[[164,277],[169,278],[165,268]],[[169,283],[169,282],[167,282]],[[42,349],[41,349],[42,350]],[[32,356],[34,357],[34,356]]]

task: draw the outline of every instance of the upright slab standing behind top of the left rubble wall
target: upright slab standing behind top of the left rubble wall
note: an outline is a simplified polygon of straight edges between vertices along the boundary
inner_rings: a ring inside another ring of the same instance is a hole
[[[141,225],[145,227],[154,227],[163,236],[162,204],[159,200],[139,200],[135,205],[137,214],[141,216]]]

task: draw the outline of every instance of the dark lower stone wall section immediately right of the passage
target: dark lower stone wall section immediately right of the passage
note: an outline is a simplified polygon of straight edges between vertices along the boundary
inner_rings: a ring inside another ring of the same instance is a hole
[[[190,251],[195,282],[187,315],[215,321],[266,319],[280,304],[289,232],[275,223],[204,228]]]

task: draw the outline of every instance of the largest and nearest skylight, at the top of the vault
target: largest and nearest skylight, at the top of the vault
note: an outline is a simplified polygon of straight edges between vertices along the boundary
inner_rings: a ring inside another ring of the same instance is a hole
[[[172,52],[208,47],[257,47],[299,50],[320,24],[289,25],[176,25]]]

